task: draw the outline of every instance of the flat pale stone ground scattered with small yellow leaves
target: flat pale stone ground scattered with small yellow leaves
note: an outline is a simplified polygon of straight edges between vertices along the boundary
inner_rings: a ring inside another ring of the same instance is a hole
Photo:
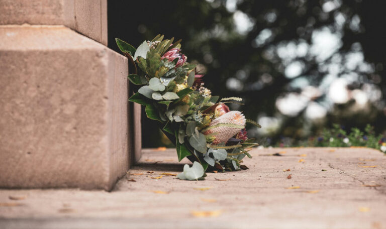
[[[386,228],[381,152],[273,148],[250,153],[253,158],[244,160],[249,170],[208,173],[204,181],[152,179],[181,172],[187,160],[178,163],[175,150],[148,149],[110,193],[0,190],[1,203],[24,204],[0,207],[0,228]],[[192,211],[220,213],[199,218]]]

